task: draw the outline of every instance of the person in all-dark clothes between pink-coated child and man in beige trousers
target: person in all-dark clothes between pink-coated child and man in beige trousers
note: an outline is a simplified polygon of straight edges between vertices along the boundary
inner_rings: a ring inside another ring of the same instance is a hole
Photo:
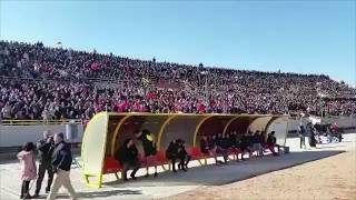
[[[46,193],[50,191],[50,188],[53,181],[53,170],[51,164],[51,156],[53,152],[53,148],[55,148],[53,136],[51,136],[50,131],[44,131],[43,139],[37,143],[37,149],[39,152],[39,167],[38,167],[38,178],[36,182],[36,192],[33,196],[34,198],[39,197],[46,171],[48,174]]]

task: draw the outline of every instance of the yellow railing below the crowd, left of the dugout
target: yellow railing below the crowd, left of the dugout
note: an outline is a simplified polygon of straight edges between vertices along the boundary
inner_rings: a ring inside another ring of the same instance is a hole
[[[47,124],[85,124],[83,120],[63,119],[63,120],[0,120],[2,126],[47,126]]]

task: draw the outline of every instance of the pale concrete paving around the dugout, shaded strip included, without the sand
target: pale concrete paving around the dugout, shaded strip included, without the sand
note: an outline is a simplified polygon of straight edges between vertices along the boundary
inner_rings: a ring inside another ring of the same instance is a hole
[[[80,176],[79,169],[71,171],[71,179],[79,199],[117,200],[117,199],[159,199],[180,192],[194,190],[201,186],[219,186],[256,177],[270,171],[290,168],[293,166],[323,159],[355,149],[356,134],[345,134],[342,143],[320,144],[317,149],[298,149],[298,139],[288,139],[289,154],[280,157],[267,156],[248,161],[230,161],[228,166],[196,167],[192,162],[188,172],[162,172],[157,178],[139,177],[136,181],[117,181],[113,174],[105,176],[105,186],[101,189],[88,188]],[[212,163],[212,160],[209,160]],[[139,170],[142,176],[145,170]],[[46,181],[46,179],[44,179]],[[20,176],[17,160],[2,161],[0,164],[0,199],[19,199]],[[34,186],[31,191],[33,193]],[[44,196],[42,197],[44,199]],[[61,191],[58,199],[68,199]]]

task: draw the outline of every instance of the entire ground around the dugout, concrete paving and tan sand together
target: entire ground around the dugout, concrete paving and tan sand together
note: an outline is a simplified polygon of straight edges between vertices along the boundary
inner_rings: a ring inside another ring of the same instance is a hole
[[[79,199],[356,200],[356,133],[345,136],[342,143],[320,144],[317,149],[300,149],[298,139],[287,139],[287,146],[290,153],[280,157],[231,161],[221,167],[200,167],[196,161],[187,173],[164,172],[158,178],[125,183],[107,174],[101,189],[85,186],[78,168],[71,170],[70,178]],[[344,153],[335,156],[339,152]],[[19,167],[14,159],[0,158],[0,200],[19,199]],[[275,171],[278,169],[285,170]],[[139,170],[139,176],[144,174],[145,170]],[[68,199],[67,192],[60,193],[60,199]]]

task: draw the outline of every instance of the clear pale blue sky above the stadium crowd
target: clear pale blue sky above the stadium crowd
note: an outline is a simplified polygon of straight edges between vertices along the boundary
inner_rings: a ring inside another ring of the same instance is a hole
[[[0,1],[0,39],[356,86],[356,1]]]

